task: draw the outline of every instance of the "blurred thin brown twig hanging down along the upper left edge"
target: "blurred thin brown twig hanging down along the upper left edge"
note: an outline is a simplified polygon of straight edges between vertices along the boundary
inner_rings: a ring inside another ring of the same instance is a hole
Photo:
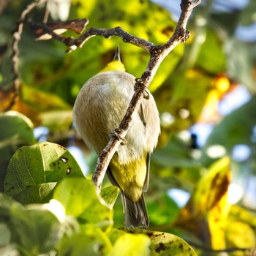
[[[15,29],[15,31],[13,31],[12,36],[13,36],[13,42],[12,42],[12,72],[14,74],[14,78],[13,78],[13,97],[12,100],[10,101],[9,105],[7,106],[7,108],[4,109],[4,111],[8,111],[10,110],[13,105],[15,105],[16,99],[20,93],[20,72],[18,71],[18,66],[19,66],[19,55],[20,55],[20,51],[18,49],[18,44],[20,42],[21,39],[21,34],[23,31],[23,25],[26,21],[26,15],[29,14],[29,12],[31,12],[31,10],[34,9],[34,7],[37,7],[39,4],[44,4],[45,2],[47,2],[48,0],[39,0],[39,1],[35,1],[31,4],[29,4],[25,10],[23,10],[23,12],[21,12],[20,14],[20,18],[18,19],[18,24],[17,27]]]

